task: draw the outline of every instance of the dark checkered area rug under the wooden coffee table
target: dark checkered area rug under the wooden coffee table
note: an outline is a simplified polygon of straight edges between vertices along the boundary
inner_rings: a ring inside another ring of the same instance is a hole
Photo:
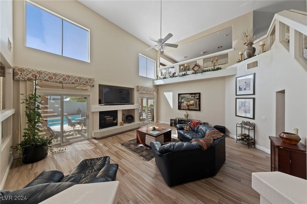
[[[171,139],[171,142],[179,142],[180,140],[177,139],[177,137]],[[128,149],[130,152],[135,153],[136,155],[138,155],[139,157],[141,157],[142,159],[144,159],[145,161],[150,161],[151,159],[154,158],[154,154],[153,154],[153,150],[150,147],[146,147],[140,143],[136,142],[136,138],[133,140],[129,140],[127,142],[124,142],[122,144],[123,147],[125,147],[126,149]]]

